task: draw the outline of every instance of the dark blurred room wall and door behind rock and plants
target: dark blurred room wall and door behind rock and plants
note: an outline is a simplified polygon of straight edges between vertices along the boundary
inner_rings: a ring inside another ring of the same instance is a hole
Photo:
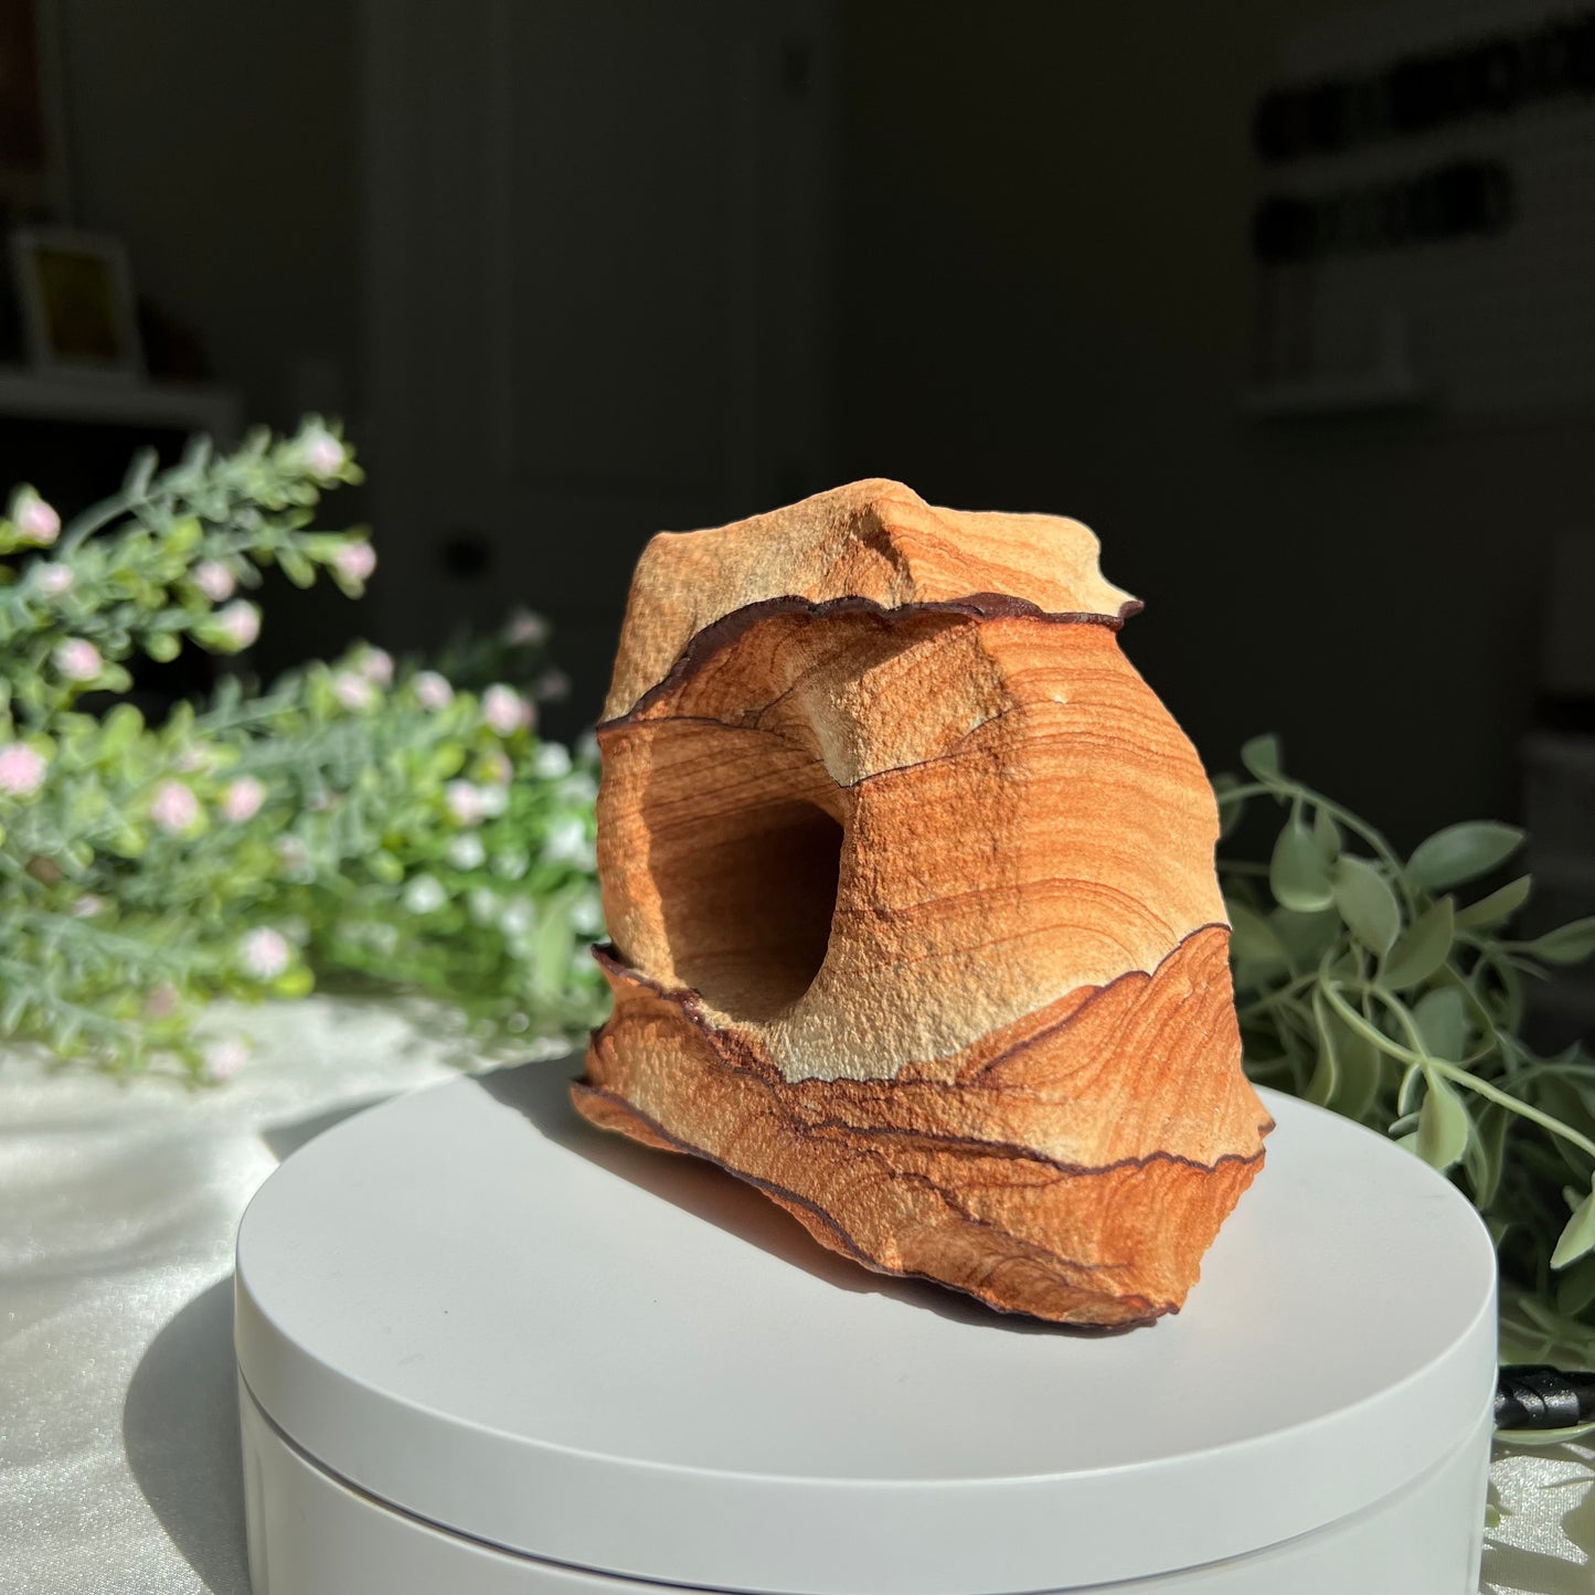
[[[5,472],[306,410],[372,472],[372,595],[274,593],[262,668],[525,603],[571,734],[652,531],[893,475],[1091,523],[1212,769],[1271,729],[1400,844],[1528,818],[1595,911],[1595,11],[0,11],[6,217],[142,330],[89,383],[13,303]]]

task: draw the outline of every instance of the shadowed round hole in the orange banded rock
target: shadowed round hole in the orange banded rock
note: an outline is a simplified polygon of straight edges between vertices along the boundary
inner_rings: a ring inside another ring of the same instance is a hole
[[[746,1021],[788,1008],[818,975],[844,841],[842,825],[809,796],[841,799],[823,767],[793,761],[780,743],[785,756],[767,759],[758,743],[774,738],[754,737],[754,746],[723,745],[721,759],[705,759],[691,817],[660,813],[667,823],[649,826],[675,975],[713,1008]]]

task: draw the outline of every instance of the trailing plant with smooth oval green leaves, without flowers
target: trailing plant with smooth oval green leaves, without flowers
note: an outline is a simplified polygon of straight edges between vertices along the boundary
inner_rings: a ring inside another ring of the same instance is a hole
[[[1271,857],[1220,855],[1247,1072],[1369,1124],[1447,1172],[1495,1239],[1502,1359],[1595,1367],[1595,1064],[1536,1056],[1523,983],[1595,954],[1595,919],[1512,936],[1531,879],[1461,901],[1523,833],[1451,825],[1402,858],[1284,772],[1279,742],[1214,782],[1223,836],[1286,810]]]

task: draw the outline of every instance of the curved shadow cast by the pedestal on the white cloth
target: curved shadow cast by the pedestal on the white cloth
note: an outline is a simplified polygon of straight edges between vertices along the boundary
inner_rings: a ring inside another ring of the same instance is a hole
[[[233,1276],[150,1343],[121,1410],[132,1477],[212,1595],[249,1595],[233,1364]]]

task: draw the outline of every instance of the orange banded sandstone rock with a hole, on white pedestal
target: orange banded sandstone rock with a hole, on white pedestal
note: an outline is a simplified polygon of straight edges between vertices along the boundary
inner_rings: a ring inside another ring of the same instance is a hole
[[[1177,1311],[1271,1124],[1139,608],[1077,522],[895,482],[656,538],[598,731],[581,1112],[869,1268]]]

